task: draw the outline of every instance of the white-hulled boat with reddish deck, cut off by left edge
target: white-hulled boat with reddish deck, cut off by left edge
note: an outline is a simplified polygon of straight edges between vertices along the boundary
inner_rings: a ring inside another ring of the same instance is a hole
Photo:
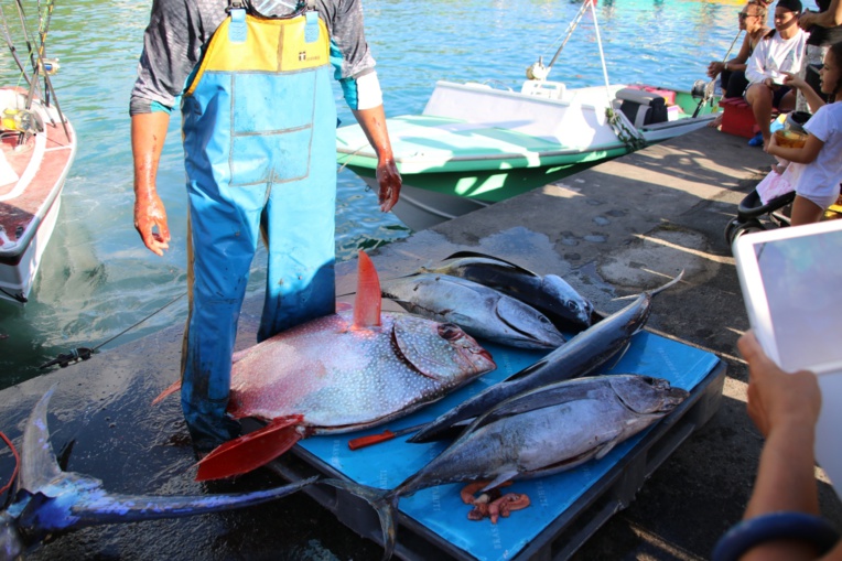
[[[53,234],[76,133],[55,105],[0,87],[0,299],[26,302]]]

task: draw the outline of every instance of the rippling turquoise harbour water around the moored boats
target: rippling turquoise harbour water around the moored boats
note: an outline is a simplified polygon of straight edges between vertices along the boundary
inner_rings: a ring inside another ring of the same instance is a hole
[[[151,1],[57,2],[47,55],[60,57],[62,68],[53,84],[79,147],[30,303],[0,302],[0,388],[37,376],[37,365],[58,353],[94,347],[118,335],[183,294],[185,287],[186,197],[177,116],[158,177],[173,238],[168,253],[159,258],[148,251],[132,226],[128,105]],[[552,57],[580,4],[366,0],[365,7],[387,116],[396,116],[420,112],[438,79],[493,78],[518,87],[539,55],[546,63]],[[11,20],[11,4],[3,9]],[[725,54],[736,33],[738,10],[734,2],[600,1],[596,12],[611,80],[689,89],[693,80],[704,78],[711,60]],[[22,43],[18,46],[24,48]],[[590,15],[550,77],[569,86],[602,82]],[[0,83],[17,80],[13,62],[3,51]],[[342,121],[352,122],[338,89],[336,98]],[[347,170],[338,177],[339,259],[410,234],[397,218],[379,212],[375,194],[361,180]],[[262,290],[262,262],[259,255],[250,293]],[[185,311],[181,299],[104,348],[181,324]]]

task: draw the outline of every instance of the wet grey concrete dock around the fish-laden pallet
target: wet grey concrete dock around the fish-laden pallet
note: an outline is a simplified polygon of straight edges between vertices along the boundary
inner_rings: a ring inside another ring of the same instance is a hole
[[[498,203],[373,252],[381,277],[407,273],[457,250],[486,252],[562,276],[603,312],[617,296],[660,285],[648,328],[727,363],[720,410],[574,555],[706,559],[742,517],[763,440],[745,412],[746,368],[736,339],[748,327],[723,229],[773,159],[740,137],[701,129],[595,166],[560,184]],[[353,291],[355,263],[337,268]],[[253,341],[260,302],[244,308],[238,347]],[[19,439],[53,384],[53,444],[66,468],[125,494],[240,492],[282,482],[265,471],[235,483],[192,481],[193,457],[177,399],[151,399],[177,378],[182,325],[0,392],[0,430]],[[20,444],[20,440],[17,441]],[[61,449],[61,450],[60,450]],[[0,473],[11,473],[0,453]],[[817,468],[823,514],[842,505]],[[314,544],[317,543],[317,544]],[[315,548],[315,549],[314,549]],[[303,494],[238,513],[91,528],[35,548],[31,559],[379,559],[381,550]]]

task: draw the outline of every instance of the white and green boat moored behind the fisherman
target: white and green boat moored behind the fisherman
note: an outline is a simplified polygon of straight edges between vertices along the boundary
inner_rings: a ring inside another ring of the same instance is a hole
[[[589,7],[582,4],[568,37]],[[547,80],[560,52],[548,67],[540,60],[532,65],[518,90],[492,87],[496,80],[439,82],[421,115],[387,119],[403,177],[395,213],[407,226],[430,227],[714,118],[716,105],[703,87],[609,85],[607,72],[604,86]],[[376,188],[377,155],[363,130],[352,125],[336,136],[338,163]]]

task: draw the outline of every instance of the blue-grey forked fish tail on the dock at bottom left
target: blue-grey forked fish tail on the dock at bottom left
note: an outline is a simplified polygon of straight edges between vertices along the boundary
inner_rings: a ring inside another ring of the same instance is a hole
[[[46,409],[50,389],[33,409],[23,433],[18,494],[0,511],[0,559],[17,559],[48,533],[68,532],[106,524],[217,513],[274,500],[313,483],[316,477],[253,493],[199,496],[116,495],[102,482],[64,472],[50,442]]]

